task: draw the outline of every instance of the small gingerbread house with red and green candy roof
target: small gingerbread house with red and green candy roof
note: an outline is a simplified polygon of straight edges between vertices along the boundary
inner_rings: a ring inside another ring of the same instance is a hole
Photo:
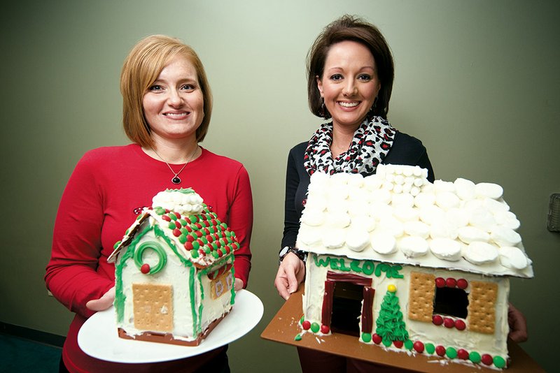
[[[119,336],[197,345],[235,301],[235,233],[193,189],[153,198],[116,243]]]

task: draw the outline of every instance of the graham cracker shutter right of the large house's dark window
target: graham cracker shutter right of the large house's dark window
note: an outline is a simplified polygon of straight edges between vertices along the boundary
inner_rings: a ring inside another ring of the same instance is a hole
[[[493,334],[496,325],[496,298],[498,284],[495,282],[470,282],[468,305],[468,329],[473,332]]]

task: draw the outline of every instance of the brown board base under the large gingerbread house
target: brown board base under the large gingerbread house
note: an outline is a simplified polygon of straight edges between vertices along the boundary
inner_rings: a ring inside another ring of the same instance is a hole
[[[465,365],[453,363],[451,360],[439,358],[437,356],[428,356],[426,354],[409,355],[404,349],[402,350],[403,352],[386,351],[380,346],[359,342],[358,338],[352,337],[351,335],[335,333],[332,335],[317,336],[311,332],[306,332],[302,335],[301,340],[296,341],[295,336],[301,332],[298,322],[303,314],[302,294],[303,286],[300,286],[298,291],[293,293],[290,299],[279,309],[274,319],[272,319],[265,330],[262,331],[260,337],[274,342],[291,344],[297,347],[333,353],[335,355],[366,360],[372,363],[389,365],[391,367],[398,367],[415,372],[496,372],[495,369],[487,368],[479,364]],[[511,363],[510,367],[507,367],[507,370],[504,372],[545,372],[545,370],[516,343],[509,342],[507,348],[510,353]]]

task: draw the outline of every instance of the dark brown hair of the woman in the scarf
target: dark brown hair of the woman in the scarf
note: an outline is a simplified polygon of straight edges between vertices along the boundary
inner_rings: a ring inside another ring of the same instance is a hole
[[[322,78],[328,51],[333,44],[341,41],[356,41],[370,50],[377,67],[377,78],[381,89],[377,94],[371,115],[387,119],[389,100],[393,90],[393,55],[381,31],[373,24],[352,15],[343,15],[328,24],[317,36],[307,53],[307,96],[309,109],[317,117],[330,118],[330,113],[323,107],[321,93],[316,78]]]

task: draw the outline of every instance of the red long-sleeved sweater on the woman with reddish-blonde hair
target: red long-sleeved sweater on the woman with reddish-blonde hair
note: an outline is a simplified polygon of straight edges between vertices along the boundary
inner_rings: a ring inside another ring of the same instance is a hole
[[[182,165],[171,165],[180,170]],[[71,372],[124,372],[153,370],[152,364],[115,364],[87,356],[78,346],[80,326],[94,314],[85,303],[101,296],[115,284],[115,267],[107,263],[113,244],[120,240],[142,207],[165,189],[193,188],[218,217],[235,231],[241,247],[235,254],[235,277],[245,286],[251,269],[253,200],[244,166],[207,149],[188,163],[173,184],[167,165],[145,154],[136,144],[102,147],[84,154],[73,171],[58,208],[52,254],[45,281],[52,294],[76,312],[62,356]],[[195,370],[219,351],[195,358],[160,363],[158,371]]]

